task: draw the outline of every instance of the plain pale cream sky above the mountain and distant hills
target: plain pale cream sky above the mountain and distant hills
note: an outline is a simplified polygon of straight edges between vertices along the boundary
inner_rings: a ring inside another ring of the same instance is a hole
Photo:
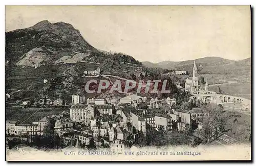
[[[6,31],[63,21],[139,61],[251,57],[250,6],[6,6]]]

